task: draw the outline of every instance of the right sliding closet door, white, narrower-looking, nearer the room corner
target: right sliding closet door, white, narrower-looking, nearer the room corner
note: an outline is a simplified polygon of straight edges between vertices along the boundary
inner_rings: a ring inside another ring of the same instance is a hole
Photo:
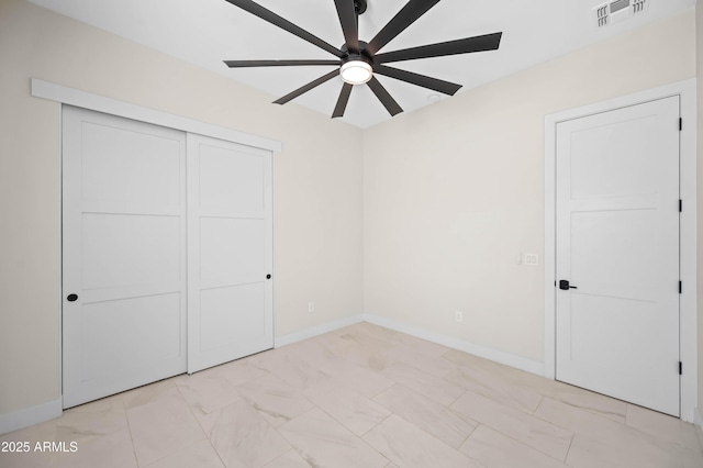
[[[188,135],[188,371],[274,347],[271,153]]]

